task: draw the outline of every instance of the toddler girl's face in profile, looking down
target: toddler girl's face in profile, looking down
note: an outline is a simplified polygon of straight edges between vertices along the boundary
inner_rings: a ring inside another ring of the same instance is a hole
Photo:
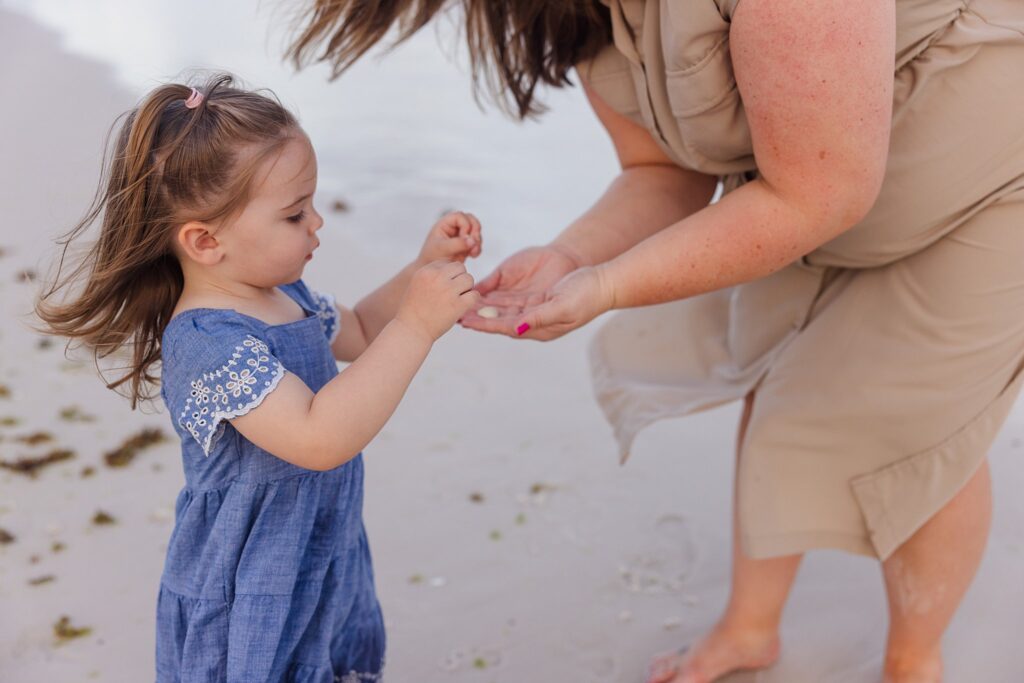
[[[256,182],[245,210],[216,234],[222,265],[232,279],[254,287],[295,282],[319,246],[316,230],[324,225],[313,209],[316,155],[309,139],[289,140],[265,162]]]

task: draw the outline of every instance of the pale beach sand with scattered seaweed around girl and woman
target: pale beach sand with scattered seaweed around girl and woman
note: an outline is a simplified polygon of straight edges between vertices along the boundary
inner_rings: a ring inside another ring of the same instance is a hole
[[[124,467],[104,454],[145,429],[173,437],[169,418],[130,412],[88,360],[41,347],[25,317],[37,284],[23,276],[45,271],[52,240],[95,189],[110,123],[139,93],[5,10],[0,63],[0,459],[73,452],[35,478],[0,470],[0,529],[12,537],[0,543],[0,681],[152,680],[178,452],[157,443]],[[328,213],[324,232],[339,220]],[[354,303],[412,255],[337,230],[306,280]],[[452,331],[367,449],[388,681],[642,681],[654,653],[691,642],[722,609],[738,405],[652,427],[620,467],[591,395],[589,336],[536,344]],[[39,432],[52,440],[17,440]],[[945,641],[954,683],[1024,680],[1022,436],[1018,408],[991,454],[988,552]],[[97,524],[100,511],[115,522]],[[91,631],[58,642],[62,615]],[[729,680],[878,681],[885,625],[877,563],[815,553],[780,661]]]

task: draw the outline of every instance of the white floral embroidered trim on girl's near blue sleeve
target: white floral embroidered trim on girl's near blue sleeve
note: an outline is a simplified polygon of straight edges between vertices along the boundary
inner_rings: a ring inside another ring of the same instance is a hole
[[[193,380],[178,424],[209,456],[224,432],[224,421],[245,415],[263,402],[284,376],[285,368],[276,358],[270,360],[267,345],[247,335],[225,365]],[[260,381],[262,386],[255,386]]]

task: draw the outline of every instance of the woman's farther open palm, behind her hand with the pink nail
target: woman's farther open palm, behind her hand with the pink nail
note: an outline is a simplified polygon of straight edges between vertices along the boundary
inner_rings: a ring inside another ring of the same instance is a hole
[[[478,310],[471,311],[462,318],[463,327],[516,336],[513,322],[527,307],[543,303],[548,290],[579,266],[575,258],[556,246],[516,252],[476,286],[483,295],[481,304],[493,309],[492,316],[481,317]]]

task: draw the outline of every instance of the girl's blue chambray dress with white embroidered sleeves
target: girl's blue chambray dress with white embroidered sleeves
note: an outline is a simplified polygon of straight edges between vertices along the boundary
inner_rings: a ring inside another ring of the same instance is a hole
[[[305,470],[228,422],[286,372],[314,392],[338,374],[333,300],[302,281],[280,289],[304,319],[266,325],[197,308],[164,332],[161,394],[181,437],[185,487],[157,603],[158,683],[381,680],[362,456]]]

